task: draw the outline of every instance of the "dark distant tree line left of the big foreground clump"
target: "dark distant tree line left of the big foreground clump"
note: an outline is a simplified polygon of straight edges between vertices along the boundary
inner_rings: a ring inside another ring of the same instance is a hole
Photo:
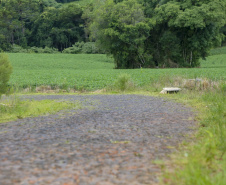
[[[1,0],[0,49],[16,44],[62,51],[85,40],[82,13],[77,4],[64,7],[55,0]]]

